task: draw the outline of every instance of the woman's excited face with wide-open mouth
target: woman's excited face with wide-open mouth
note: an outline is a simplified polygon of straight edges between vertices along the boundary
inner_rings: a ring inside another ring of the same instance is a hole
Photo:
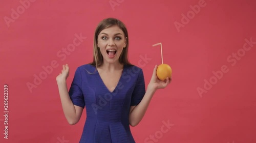
[[[97,45],[103,56],[104,63],[116,63],[123,48],[126,47],[126,38],[123,31],[115,25],[100,32]]]

